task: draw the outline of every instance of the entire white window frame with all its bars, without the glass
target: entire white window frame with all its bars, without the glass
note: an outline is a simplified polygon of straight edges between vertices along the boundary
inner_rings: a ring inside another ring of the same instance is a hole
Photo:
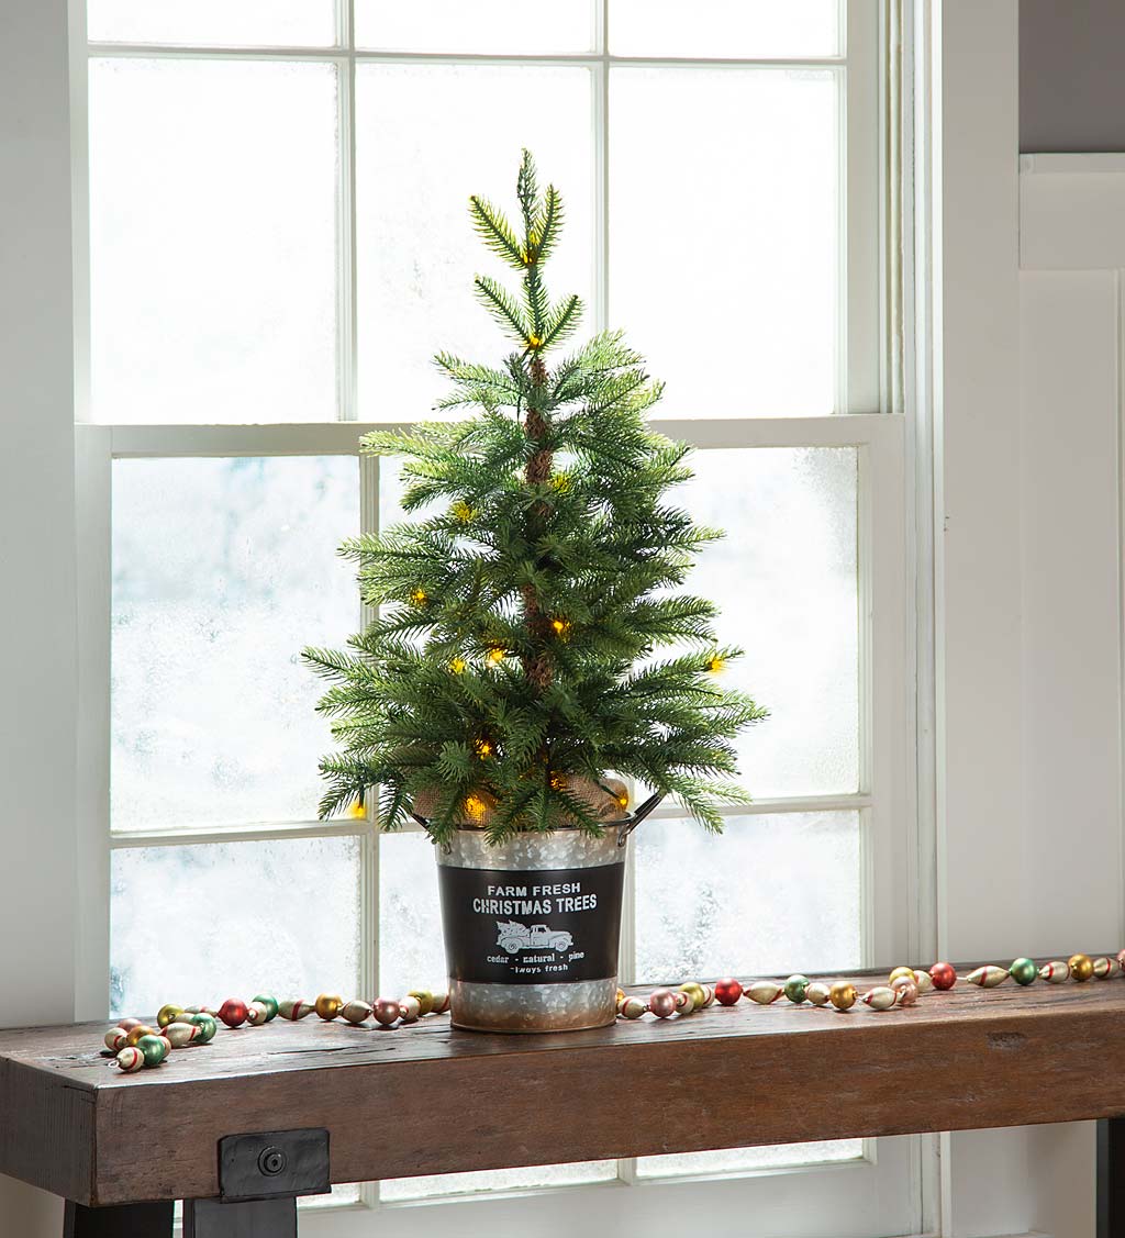
[[[73,9],[82,9],[79,2]],[[230,842],[248,838],[349,836],[360,839],[363,884],[361,905],[361,980],[365,990],[377,990],[377,836],[373,821],[333,821],[301,823],[262,823],[207,829],[152,831],[147,833],[111,834],[109,821],[109,683],[110,683],[110,506],[113,461],[119,458],[167,457],[238,457],[238,456],[319,456],[356,454],[359,436],[375,425],[355,420],[358,411],[355,358],[355,186],[354,162],[354,98],[355,68],[360,63],[389,61],[420,61],[437,63],[548,63],[583,64],[592,69],[594,90],[595,137],[593,154],[597,171],[597,192],[601,203],[595,255],[598,280],[593,310],[594,326],[601,327],[608,307],[608,108],[609,72],[616,64],[646,67],[694,64],[712,67],[746,67],[755,63],[778,63],[788,67],[830,68],[840,83],[842,167],[840,210],[843,235],[847,238],[839,272],[840,290],[840,352],[837,359],[838,407],[847,416],[731,418],[715,421],[657,421],[656,428],[676,438],[686,438],[702,449],[708,448],[780,448],[780,447],[855,447],[859,459],[859,565],[860,565],[860,789],[855,795],[834,797],[791,797],[759,801],[746,811],[801,812],[855,810],[863,823],[863,857],[865,867],[863,952],[865,962],[882,962],[910,956],[918,945],[918,900],[911,880],[917,862],[917,839],[912,829],[902,829],[913,820],[911,811],[912,759],[908,743],[907,693],[907,621],[906,562],[907,547],[903,530],[905,511],[905,428],[903,418],[887,415],[897,411],[894,381],[894,352],[884,329],[887,295],[886,210],[879,194],[887,168],[882,145],[873,140],[881,131],[879,119],[884,106],[880,73],[876,62],[887,59],[884,30],[885,12],[879,0],[842,0],[848,15],[848,68],[843,58],[824,61],[755,62],[679,61],[675,58],[610,57],[605,51],[606,14],[600,5],[601,33],[597,53],[567,57],[536,56],[412,56],[410,53],[376,54],[351,48],[351,5],[340,0],[340,46],[337,48],[209,48],[155,47],[151,45],[95,45],[87,48],[78,35],[79,48],[74,56],[74,130],[75,155],[75,219],[88,218],[87,150],[84,132],[85,63],[87,54],[95,56],[161,56],[170,58],[214,59],[311,59],[337,66],[340,80],[339,125],[342,149],[348,157],[340,160],[340,220],[339,220],[339,396],[340,420],[301,425],[93,425],[89,422],[89,359],[88,359],[88,236],[84,227],[75,225],[75,288],[78,292],[77,343],[77,501],[79,527],[79,803],[84,815],[79,827],[79,862],[88,880],[82,884],[79,903],[79,1018],[104,1018],[106,1014],[105,978],[109,974],[109,863],[116,847],[162,846],[176,842]],[[864,22],[860,37],[860,22]],[[84,31],[84,15],[74,26]],[[863,89],[851,90],[845,83],[859,82]],[[891,262],[892,265],[892,262]],[[880,412],[876,410],[887,410]],[[380,422],[377,428],[389,428]],[[360,462],[360,515],[364,529],[377,526],[377,462]],[[675,816],[675,810],[662,810]],[[623,941],[621,976],[632,978],[632,877],[626,889],[625,932]],[[101,978],[101,983],[97,983]],[[874,1182],[870,1175],[882,1162],[882,1172],[894,1172],[910,1180],[911,1188],[921,1175],[922,1151],[918,1140],[895,1141],[890,1151],[877,1151],[876,1141],[865,1143],[860,1161],[840,1166],[797,1166],[778,1175],[725,1176],[724,1184],[739,1176],[780,1179],[790,1174],[808,1177],[812,1187],[822,1179],[843,1180],[851,1172],[854,1185],[843,1192],[856,1198],[870,1196]],[[634,1180],[631,1161],[620,1162],[619,1182]],[[694,1210],[702,1206],[702,1186],[692,1188],[691,1180],[675,1180],[683,1192],[677,1205]],[[650,1224],[656,1224],[663,1210],[658,1202],[662,1184],[646,1179],[629,1203],[629,1217],[640,1221],[639,1210],[651,1211]],[[717,1184],[708,1187],[714,1192]],[[603,1187],[564,1187],[568,1208],[583,1208],[580,1200]],[[723,1195],[726,1185],[718,1186]],[[649,1202],[639,1200],[647,1192]],[[524,1197],[538,1196],[541,1190],[512,1192]],[[634,1192],[630,1192],[632,1195]],[[786,1192],[774,1190],[767,1208],[777,1207],[776,1200]],[[916,1192],[917,1193],[917,1192]],[[688,1195],[692,1197],[688,1198]],[[775,1200],[776,1197],[776,1200]],[[505,1196],[489,1196],[504,1200]],[[765,1197],[760,1193],[760,1200]],[[464,1203],[452,1200],[434,1201],[449,1208],[449,1224],[457,1226]],[[360,1207],[408,1207],[410,1203],[376,1205],[375,1196],[365,1187]],[[476,1206],[476,1201],[474,1205]],[[741,1205],[738,1205],[739,1207]],[[603,1205],[598,1205],[598,1208]],[[344,1210],[339,1210],[344,1211]],[[494,1210],[505,1214],[510,1205]],[[923,1228],[921,1203],[913,1232]],[[481,1221],[483,1214],[476,1213]],[[778,1211],[778,1226],[783,1210]],[[572,1212],[573,1219],[573,1212]],[[316,1229],[332,1228],[337,1221],[328,1214],[313,1213],[303,1226]],[[527,1219],[521,1222],[526,1229]],[[540,1231],[542,1227],[540,1224]],[[325,1232],[328,1232],[325,1229]],[[337,1231],[339,1232],[339,1231]],[[354,1232],[354,1231],[350,1231]],[[499,1231],[498,1231],[499,1232]],[[515,1231],[514,1231],[515,1232]],[[830,1226],[825,1233],[832,1233]]]

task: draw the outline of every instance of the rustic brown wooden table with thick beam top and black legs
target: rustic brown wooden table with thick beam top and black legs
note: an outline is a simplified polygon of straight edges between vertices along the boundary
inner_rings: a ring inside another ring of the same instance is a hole
[[[245,1133],[323,1128],[330,1181],[356,1182],[1089,1118],[1110,1119],[1099,1238],[1125,1238],[1121,979],[959,983],[882,1014],[744,1000],[538,1036],[460,1032],[446,1016],[401,1030],[312,1016],[220,1030],[139,1075],[100,1051],[104,1031],[0,1032],[0,1172],[69,1201],[68,1238],[166,1238],[173,1200],[199,1201],[184,1238],[296,1234],[307,1182],[265,1202],[244,1182],[239,1202],[219,1201],[240,1195],[220,1182],[219,1140]],[[908,1104],[903,1070],[934,1081]],[[661,1106],[608,1103],[657,1094]],[[422,1106],[431,1120],[405,1120]]]

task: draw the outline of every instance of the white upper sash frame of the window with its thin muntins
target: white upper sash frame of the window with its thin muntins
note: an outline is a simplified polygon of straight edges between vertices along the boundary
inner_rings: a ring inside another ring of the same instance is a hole
[[[359,366],[356,357],[356,178],[355,178],[355,77],[361,64],[542,64],[585,67],[592,74],[593,135],[590,152],[595,186],[595,281],[590,324],[601,331],[609,305],[609,78],[618,67],[641,68],[777,68],[821,69],[834,74],[840,94],[839,114],[839,235],[837,271],[837,394],[835,412],[874,412],[890,405],[889,378],[891,332],[887,324],[885,274],[890,251],[885,244],[885,160],[879,135],[884,130],[884,74],[879,0],[840,0],[845,21],[843,54],[801,58],[635,57],[608,51],[608,5],[599,2],[598,43],[594,52],[566,56],[473,54],[431,52],[369,52],[354,47],[351,0],[338,0],[335,47],[222,47],[161,43],[84,43],[84,56],[74,57],[73,87],[79,100],[75,113],[73,156],[75,218],[88,209],[88,135],[85,126],[88,58],[171,58],[218,61],[312,61],[330,63],[339,74],[338,128],[339,172],[337,288],[338,288],[338,420],[359,416]],[[84,14],[75,38],[84,36]],[[80,113],[80,114],[78,114]],[[75,228],[77,270],[77,400],[78,421],[92,420],[89,399],[89,235]],[[104,422],[109,423],[109,422]]]

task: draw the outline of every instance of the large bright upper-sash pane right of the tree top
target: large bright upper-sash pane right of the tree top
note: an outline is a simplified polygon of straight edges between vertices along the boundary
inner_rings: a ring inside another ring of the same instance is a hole
[[[610,88],[610,324],[667,381],[657,415],[832,412],[833,73],[618,68]]]

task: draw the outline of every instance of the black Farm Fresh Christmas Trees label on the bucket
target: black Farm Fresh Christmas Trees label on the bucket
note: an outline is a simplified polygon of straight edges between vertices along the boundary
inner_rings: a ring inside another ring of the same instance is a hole
[[[449,976],[557,984],[618,974],[624,864],[535,873],[438,865]]]

